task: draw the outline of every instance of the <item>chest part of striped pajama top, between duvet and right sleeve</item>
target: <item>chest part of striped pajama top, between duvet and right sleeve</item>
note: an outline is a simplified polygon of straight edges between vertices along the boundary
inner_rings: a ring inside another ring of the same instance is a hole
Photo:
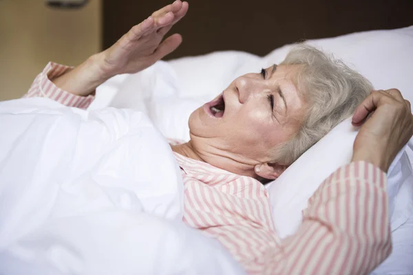
[[[174,153],[184,183],[183,221],[226,247],[244,267],[278,243],[266,188],[252,177]]]

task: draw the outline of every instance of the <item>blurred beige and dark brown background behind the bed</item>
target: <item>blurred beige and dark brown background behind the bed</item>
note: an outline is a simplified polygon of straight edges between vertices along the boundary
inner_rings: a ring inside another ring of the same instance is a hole
[[[187,17],[171,32],[184,43],[168,59],[217,50],[264,55],[301,39],[413,25],[412,0],[187,1]],[[171,1],[89,0],[76,9],[46,2],[0,0],[0,100],[23,96],[48,61],[78,65]]]

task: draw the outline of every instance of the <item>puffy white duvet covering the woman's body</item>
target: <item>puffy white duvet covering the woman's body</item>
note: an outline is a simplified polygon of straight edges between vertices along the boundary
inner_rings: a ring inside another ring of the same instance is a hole
[[[182,222],[180,168],[147,116],[0,102],[0,274],[243,274]]]

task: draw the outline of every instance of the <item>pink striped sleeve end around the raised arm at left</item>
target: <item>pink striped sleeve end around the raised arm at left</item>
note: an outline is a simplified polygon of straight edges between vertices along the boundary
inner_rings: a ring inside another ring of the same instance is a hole
[[[59,65],[52,62],[48,63],[43,69],[43,72],[36,76],[28,93],[25,94],[23,98],[50,98],[67,107],[86,109],[94,100],[94,96],[76,96],[74,94],[70,94],[69,92],[54,85],[51,81],[53,78],[59,77],[71,69],[73,69],[73,67]]]

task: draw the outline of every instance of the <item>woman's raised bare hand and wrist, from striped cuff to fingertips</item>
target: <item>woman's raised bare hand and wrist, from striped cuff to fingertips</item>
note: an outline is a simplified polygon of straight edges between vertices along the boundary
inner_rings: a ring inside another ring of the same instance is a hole
[[[139,25],[131,28],[109,49],[94,54],[65,74],[53,78],[57,87],[76,96],[93,94],[96,87],[117,74],[133,74],[146,69],[173,52],[180,43],[180,34],[163,37],[187,14],[188,3],[176,0],[153,12]]]

